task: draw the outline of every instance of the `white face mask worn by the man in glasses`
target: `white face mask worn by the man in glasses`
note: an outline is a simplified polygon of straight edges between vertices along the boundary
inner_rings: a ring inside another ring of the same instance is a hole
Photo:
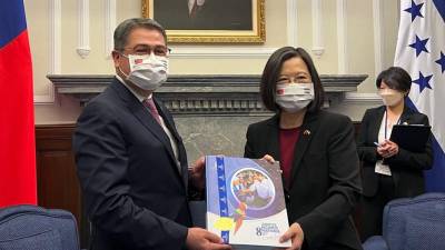
[[[130,63],[130,73],[126,76],[127,80],[137,87],[144,90],[156,90],[167,80],[168,59],[166,57],[155,56],[154,53],[150,56],[122,56],[128,58]]]

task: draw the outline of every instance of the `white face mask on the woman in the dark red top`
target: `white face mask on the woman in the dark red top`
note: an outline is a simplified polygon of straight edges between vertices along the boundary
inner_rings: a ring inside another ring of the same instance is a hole
[[[275,102],[286,112],[295,113],[314,100],[314,83],[278,83]]]

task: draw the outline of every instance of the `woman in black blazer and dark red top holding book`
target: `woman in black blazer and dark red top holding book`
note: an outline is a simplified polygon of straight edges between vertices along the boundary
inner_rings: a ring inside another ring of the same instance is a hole
[[[274,158],[284,176],[290,249],[362,249],[350,212],[360,191],[349,118],[322,110],[324,90],[301,48],[275,51],[264,69],[260,96],[276,114],[250,124],[245,157]]]

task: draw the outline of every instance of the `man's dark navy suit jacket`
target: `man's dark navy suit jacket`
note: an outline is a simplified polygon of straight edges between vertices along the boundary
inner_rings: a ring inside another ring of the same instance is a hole
[[[179,150],[117,79],[91,100],[73,136],[93,250],[181,249],[190,226],[186,151],[172,117],[155,102]]]

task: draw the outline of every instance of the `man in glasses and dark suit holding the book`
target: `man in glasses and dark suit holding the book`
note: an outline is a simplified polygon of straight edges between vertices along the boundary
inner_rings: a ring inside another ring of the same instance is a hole
[[[190,228],[187,193],[204,187],[204,160],[189,174],[172,117],[152,94],[167,78],[166,41],[150,19],[120,23],[116,78],[79,117],[73,148],[92,223],[90,249],[230,249]]]

